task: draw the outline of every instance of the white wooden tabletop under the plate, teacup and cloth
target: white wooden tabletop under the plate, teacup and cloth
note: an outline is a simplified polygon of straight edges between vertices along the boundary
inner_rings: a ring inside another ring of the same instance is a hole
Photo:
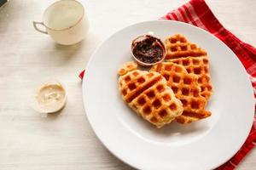
[[[85,116],[79,71],[96,46],[114,31],[138,21],[158,19],[183,0],[84,0],[90,33],[73,47],[56,45],[34,31],[53,0],[10,0],[0,8],[0,169],[132,169],[101,144]],[[256,46],[256,1],[208,0],[230,31]],[[67,106],[46,118],[31,108],[40,82],[59,79],[67,87]],[[256,169],[254,149],[237,169]]]

